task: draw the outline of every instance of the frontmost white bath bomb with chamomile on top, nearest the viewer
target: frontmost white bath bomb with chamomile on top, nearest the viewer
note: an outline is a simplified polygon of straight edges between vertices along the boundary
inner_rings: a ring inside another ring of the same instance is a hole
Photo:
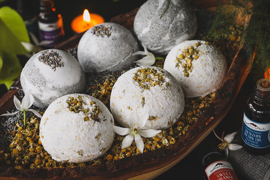
[[[59,97],[46,109],[40,141],[56,161],[87,162],[99,158],[114,139],[113,116],[98,99],[86,94]]]

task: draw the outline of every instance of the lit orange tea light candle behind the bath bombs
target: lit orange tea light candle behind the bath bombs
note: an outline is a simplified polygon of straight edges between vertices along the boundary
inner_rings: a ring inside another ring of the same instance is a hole
[[[71,28],[76,33],[82,33],[92,28],[93,26],[103,23],[104,18],[95,13],[89,13],[87,9],[83,14],[75,17],[71,22]]]

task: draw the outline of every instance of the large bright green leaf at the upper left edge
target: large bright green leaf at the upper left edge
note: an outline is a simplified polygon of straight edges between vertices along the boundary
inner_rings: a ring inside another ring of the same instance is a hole
[[[11,54],[25,54],[28,51],[21,42],[30,42],[21,16],[8,6],[0,8],[0,49]]]

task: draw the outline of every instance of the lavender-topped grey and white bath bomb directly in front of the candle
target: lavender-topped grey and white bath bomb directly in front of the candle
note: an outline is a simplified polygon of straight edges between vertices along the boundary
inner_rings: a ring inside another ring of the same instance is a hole
[[[132,33],[116,23],[106,22],[88,29],[78,44],[77,56],[86,72],[115,72],[129,68],[139,51]]]

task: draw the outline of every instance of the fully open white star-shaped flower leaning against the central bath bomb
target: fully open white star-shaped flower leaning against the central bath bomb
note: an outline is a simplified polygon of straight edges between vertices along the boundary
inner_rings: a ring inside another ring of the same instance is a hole
[[[122,149],[129,147],[133,142],[133,140],[135,140],[138,150],[140,151],[141,154],[143,154],[144,144],[141,136],[150,138],[156,136],[158,133],[161,132],[161,130],[154,130],[154,129],[141,130],[141,128],[143,128],[144,125],[146,124],[148,117],[149,117],[148,113],[144,113],[143,117],[140,118],[138,116],[137,110],[134,110],[131,112],[129,116],[129,128],[113,126],[113,130],[117,134],[127,135],[122,141],[121,145]]]

